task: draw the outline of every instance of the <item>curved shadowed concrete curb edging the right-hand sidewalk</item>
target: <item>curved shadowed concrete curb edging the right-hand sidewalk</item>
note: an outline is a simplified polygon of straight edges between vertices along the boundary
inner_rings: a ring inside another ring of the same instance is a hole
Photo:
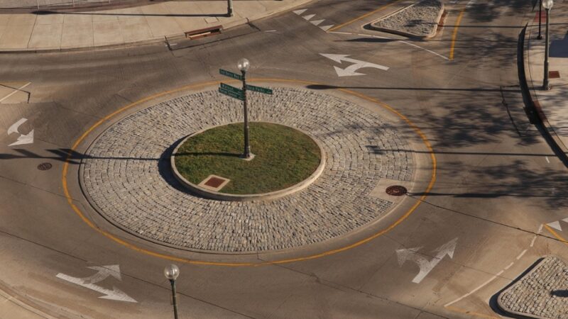
[[[525,84],[524,85],[521,84],[521,88],[528,90],[528,91],[525,92],[526,97],[528,99],[528,104],[529,104],[528,108],[530,109],[530,111],[532,111],[534,117],[537,118],[538,122],[542,125],[542,128],[544,128],[546,138],[552,144],[552,146],[556,148],[557,155],[561,156],[562,162],[566,163],[566,162],[568,162],[568,147],[567,147],[567,145],[564,145],[564,142],[562,142],[562,140],[556,134],[554,128],[552,128],[552,125],[548,121],[544,111],[542,111],[542,106],[540,105],[540,102],[538,101],[538,96],[536,94],[536,86],[534,85],[534,82],[532,81],[532,74],[530,73],[530,34],[531,34],[530,31],[531,31],[531,29],[528,28],[528,26],[525,26],[525,30],[528,31],[528,32],[525,31],[523,43],[519,44],[519,45],[523,45],[523,63],[518,64],[519,66],[522,67],[522,69],[519,70],[519,77],[525,78],[524,79]],[[527,70],[528,70],[528,77],[527,77]],[[520,81],[523,81],[523,79],[520,79]],[[528,85],[529,82],[530,82],[530,84],[532,84],[532,89]]]

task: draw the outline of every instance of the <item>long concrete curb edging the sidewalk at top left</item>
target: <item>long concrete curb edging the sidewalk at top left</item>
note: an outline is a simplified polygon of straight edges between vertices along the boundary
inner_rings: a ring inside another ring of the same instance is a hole
[[[291,9],[296,8],[297,6],[302,6],[303,4],[307,4],[314,0],[302,0],[302,1],[295,1],[292,4],[281,6],[278,9],[274,9],[272,11],[265,11],[263,13],[258,13],[254,16],[241,18],[236,21],[231,21],[228,23],[222,23],[222,30],[227,30],[230,28],[234,28],[236,26],[242,26],[247,23],[251,23],[252,21],[260,20],[262,18],[266,18],[268,16],[275,16],[278,13],[284,13],[285,11],[289,11]],[[199,30],[199,29],[196,29]],[[50,53],[50,52],[84,52],[84,51],[94,51],[94,50],[111,50],[116,48],[124,48],[124,47],[136,47],[141,45],[150,45],[154,43],[160,42],[167,42],[168,38],[185,38],[185,33],[190,33],[193,30],[188,30],[183,33],[174,33],[170,35],[165,35],[164,38],[151,38],[146,40],[134,41],[130,43],[116,43],[110,45],[94,45],[89,47],[59,47],[59,48],[31,48],[31,49],[0,49],[0,54],[11,54],[11,53]]]

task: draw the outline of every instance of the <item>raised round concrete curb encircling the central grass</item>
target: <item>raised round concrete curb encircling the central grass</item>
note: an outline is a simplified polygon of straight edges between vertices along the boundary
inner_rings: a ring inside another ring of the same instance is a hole
[[[272,122],[263,121],[262,123],[272,123]],[[282,125],[280,123],[273,123],[273,124]],[[211,128],[215,127],[217,126],[213,126]],[[195,192],[205,198],[211,198],[217,201],[268,201],[271,199],[277,199],[284,196],[288,196],[290,194],[294,194],[297,191],[305,189],[307,186],[310,186],[324,172],[327,157],[325,156],[325,152],[320,142],[318,142],[310,134],[307,134],[302,130],[299,130],[298,128],[293,128],[294,130],[297,130],[298,132],[303,133],[308,137],[310,137],[316,143],[317,147],[320,147],[320,155],[321,155],[320,164],[317,166],[315,171],[312,174],[310,174],[310,177],[307,177],[307,179],[304,179],[303,181],[300,181],[299,183],[294,184],[293,186],[290,186],[286,189],[280,189],[278,191],[271,191],[270,193],[263,193],[263,194],[242,194],[242,195],[226,194],[226,193],[219,193],[218,191],[210,191],[209,189],[204,189],[203,187],[188,181],[187,179],[185,179],[185,177],[182,176],[182,174],[180,174],[180,172],[178,172],[178,168],[175,167],[175,155],[178,153],[179,148],[183,145],[183,143],[185,143],[187,139],[192,138],[192,136],[195,136],[197,134],[203,133],[204,131],[209,130],[211,128],[205,128],[204,130],[199,130],[195,133],[188,135],[187,138],[184,138],[180,142],[180,144],[178,144],[178,146],[175,147],[175,149],[172,152],[172,156],[170,157],[170,164],[175,179],[177,179],[180,182],[180,184],[185,186],[187,189],[190,189],[190,191]]]

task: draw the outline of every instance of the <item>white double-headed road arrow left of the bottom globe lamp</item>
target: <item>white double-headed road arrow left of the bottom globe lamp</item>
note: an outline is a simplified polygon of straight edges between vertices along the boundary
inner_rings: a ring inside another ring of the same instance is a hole
[[[122,280],[121,275],[120,275],[119,265],[114,264],[114,265],[110,265],[110,266],[95,266],[95,267],[87,267],[87,268],[97,270],[97,274],[94,274],[94,275],[92,275],[90,277],[86,277],[86,278],[77,278],[77,277],[72,277],[72,276],[68,276],[66,274],[59,273],[59,274],[57,274],[57,277],[59,279],[65,280],[65,281],[69,281],[72,284],[77,284],[77,285],[82,286],[84,288],[88,288],[88,289],[97,291],[99,293],[102,293],[102,294],[104,294],[104,296],[99,297],[99,298],[102,298],[102,299],[125,301],[125,302],[128,302],[128,303],[138,303],[138,301],[134,300],[129,295],[124,293],[124,291],[121,291],[120,289],[116,288],[115,286],[112,286],[112,290],[110,290],[110,289],[105,289],[101,286],[95,285],[95,283],[97,283],[99,281],[103,281],[104,279],[107,279],[108,276],[113,276],[116,279]]]

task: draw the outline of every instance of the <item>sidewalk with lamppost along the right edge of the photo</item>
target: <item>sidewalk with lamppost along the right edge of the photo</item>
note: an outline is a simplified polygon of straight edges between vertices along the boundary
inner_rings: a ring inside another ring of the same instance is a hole
[[[550,10],[550,90],[542,89],[545,61],[546,18],[542,17],[542,40],[538,35],[538,7],[525,35],[525,74],[532,100],[542,123],[565,157],[568,156],[568,4],[555,1]],[[542,9],[542,13],[545,10]],[[557,74],[555,74],[557,72]],[[559,75],[559,77],[556,77]]]

